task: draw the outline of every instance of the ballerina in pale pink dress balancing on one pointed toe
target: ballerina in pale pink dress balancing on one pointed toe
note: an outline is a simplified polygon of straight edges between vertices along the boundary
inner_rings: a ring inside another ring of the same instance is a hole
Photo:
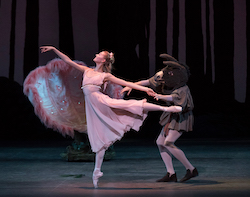
[[[79,65],[67,55],[53,46],[40,47],[41,53],[54,51],[65,63],[83,73],[82,90],[85,99],[87,120],[87,132],[91,149],[96,153],[95,168],[93,172],[93,185],[98,188],[98,180],[103,176],[101,166],[105,150],[124,133],[130,129],[138,131],[147,117],[148,111],[166,111],[178,113],[182,111],[180,106],[160,106],[143,100],[114,99],[102,93],[102,87],[107,81],[121,86],[146,92],[149,96],[155,96],[155,92],[148,87],[140,86],[132,82],[122,80],[110,73],[114,63],[114,54],[101,51],[96,54],[93,61],[95,68]]]

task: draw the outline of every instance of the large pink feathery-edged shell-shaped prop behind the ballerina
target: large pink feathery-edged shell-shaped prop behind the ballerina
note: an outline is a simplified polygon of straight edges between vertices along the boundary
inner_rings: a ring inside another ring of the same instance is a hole
[[[81,61],[75,62],[85,65]],[[23,92],[46,127],[73,137],[74,130],[87,133],[81,85],[82,72],[56,58],[29,73]],[[112,98],[122,98],[121,89],[120,85],[109,82],[103,92]]]

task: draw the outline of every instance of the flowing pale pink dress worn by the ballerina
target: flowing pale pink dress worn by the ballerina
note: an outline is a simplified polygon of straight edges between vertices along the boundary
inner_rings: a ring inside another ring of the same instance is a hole
[[[84,72],[82,83],[88,137],[93,152],[108,148],[130,129],[138,131],[147,117],[143,111],[146,99],[114,99],[101,92],[106,75],[89,68]]]

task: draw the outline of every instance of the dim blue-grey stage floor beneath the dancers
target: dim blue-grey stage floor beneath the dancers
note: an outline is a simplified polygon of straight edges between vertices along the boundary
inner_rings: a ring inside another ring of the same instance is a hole
[[[180,139],[177,143],[199,176],[185,183],[158,183],[166,174],[154,140],[122,139],[103,163],[99,188],[93,162],[60,157],[69,140],[2,141],[0,196],[250,196],[250,140]],[[178,180],[185,168],[174,159]]]

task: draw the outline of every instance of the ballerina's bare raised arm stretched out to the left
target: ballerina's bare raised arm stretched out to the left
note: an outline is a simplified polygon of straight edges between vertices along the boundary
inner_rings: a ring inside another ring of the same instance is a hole
[[[67,55],[63,54],[62,52],[60,52],[58,49],[56,49],[53,46],[42,46],[40,47],[40,49],[41,49],[41,53],[45,53],[51,50],[54,51],[65,63],[69,64],[70,66],[75,67],[81,72],[84,72],[88,68],[87,66],[79,65],[73,62]]]

